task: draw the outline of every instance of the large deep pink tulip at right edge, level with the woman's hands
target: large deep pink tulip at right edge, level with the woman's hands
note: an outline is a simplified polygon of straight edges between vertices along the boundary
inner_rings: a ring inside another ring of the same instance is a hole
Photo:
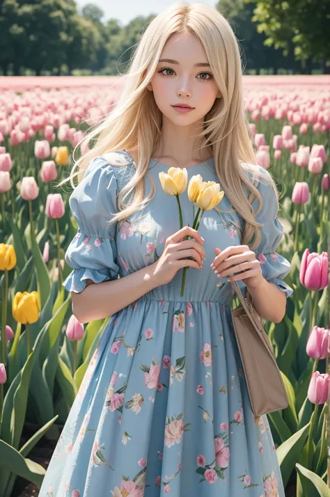
[[[307,290],[323,290],[328,285],[329,258],[327,252],[319,255],[308,248],[301,258],[299,279]]]

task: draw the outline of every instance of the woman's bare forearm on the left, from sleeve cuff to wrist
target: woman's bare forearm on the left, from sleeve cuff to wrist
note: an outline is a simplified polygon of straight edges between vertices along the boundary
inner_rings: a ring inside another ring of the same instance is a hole
[[[113,281],[94,283],[87,280],[82,292],[71,292],[72,314],[81,323],[115,314],[159,286],[154,269],[155,263]]]

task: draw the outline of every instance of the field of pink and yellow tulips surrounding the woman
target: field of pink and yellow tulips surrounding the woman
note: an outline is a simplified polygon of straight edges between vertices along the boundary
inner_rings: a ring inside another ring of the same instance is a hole
[[[58,88],[29,80],[0,93],[0,497],[17,496],[18,482],[38,494],[47,466],[36,448],[56,443],[109,319],[72,315],[62,283],[77,225],[70,183],[57,185],[73,150],[77,159],[93,147],[79,142],[111,111],[120,79]],[[244,80],[245,106],[256,161],[278,187],[276,251],[291,263],[294,290],[284,319],[265,324],[289,399],[269,424],[286,495],[330,497],[330,82],[253,81]]]

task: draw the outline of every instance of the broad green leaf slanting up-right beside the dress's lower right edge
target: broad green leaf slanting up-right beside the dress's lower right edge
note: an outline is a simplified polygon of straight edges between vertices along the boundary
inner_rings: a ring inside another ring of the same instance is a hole
[[[303,450],[308,436],[309,424],[299,429],[299,432],[290,436],[290,439],[283,442],[276,450],[278,463],[281,467],[284,487],[289,481],[294,464],[299,461],[301,450]]]

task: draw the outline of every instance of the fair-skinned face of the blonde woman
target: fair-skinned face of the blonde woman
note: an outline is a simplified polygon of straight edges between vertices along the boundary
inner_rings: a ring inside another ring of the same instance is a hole
[[[203,45],[193,34],[168,38],[148,88],[159,110],[179,126],[203,122],[216,97],[221,96]],[[189,104],[194,109],[181,113],[173,108],[177,104]]]

